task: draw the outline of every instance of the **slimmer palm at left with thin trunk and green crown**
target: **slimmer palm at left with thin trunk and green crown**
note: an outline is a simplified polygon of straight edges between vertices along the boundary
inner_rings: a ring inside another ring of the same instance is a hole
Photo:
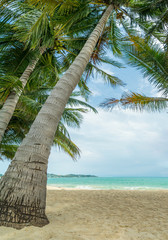
[[[72,11],[71,8],[74,6],[74,3],[72,3],[73,1],[69,1],[69,5],[65,5],[65,1],[56,1],[54,3],[54,9],[58,9],[58,16],[56,15],[50,18],[48,17],[46,11],[37,10],[36,8],[27,6],[25,3],[22,3],[20,1],[16,1],[18,2],[18,5],[14,3],[14,6],[11,1],[2,2],[4,2],[4,4],[9,2],[9,5],[7,5],[7,8],[5,9],[3,6],[1,6],[1,8],[3,8],[3,11],[0,12],[2,17],[1,25],[3,28],[5,27],[5,19],[7,27],[11,28],[10,32],[11,30],[15,30],[15,32],[14,36],[10,34],[10,37],[8,39],[5,36],[5,41],[3,41],[1,44],[7,45],[8,49],[9,41],[12,42],[12,46],[16,40],[21,41],[24,43],[25,47],[29,48],[30,50],[33,49],[35,55],[28,63],[28,66],[20,76],[19,80],[17,79],[17,83],[20,84],[19,91],[16,92],[16,89],[12,89],[7,98],[5,98],[5,102],[0,109],[0,142],[2,141],[2,137],[13,115],[19,97],[25,85],[27,84],[31,73],[35,69],[40,56],[42,56],[47,48],[55,49],[57,51],[60,51],[61,49],[67,50],[58,38],[62,37],[62,40],[64,40],[65,43],[66,39],[64,38],[64,35],[66,35],[66,37],[68,36],[68,30],[70,30],[72,23],[81,20],[83,17],[86,17],[89,14],[89,11],[87,11],[87,9],[84,9],[84,5],[86,6],[86,4],[75,5],[75,10]],[[15,14],[16,7],[18,6],[21,8],[20,11],[22,13],[19,15],[19,17],[17,14]],[[10,10],[9,8],[13,8],[13,10]],[[66,17],[63,16],[63,9],[66,11]],[[14,19],[14,17],[12,18],[12,26],[9,26],[9,18],[6,17],[9,15],[9,11],[11,16],[16,15],[15,17],[17,17],[17,20]],[[61,15],[59,16],[59,14]],[[71,34],[71,36],[72,35],[73,34]],[[4,37],[4,31],[2,32],[2,36]],[[3,77],[4,75],[2,78]],[[6,76],[5,78],[7,81],[9,81],[9,79],[11,80],[11,76]],[[13,80],[15,79],[13,78]]]

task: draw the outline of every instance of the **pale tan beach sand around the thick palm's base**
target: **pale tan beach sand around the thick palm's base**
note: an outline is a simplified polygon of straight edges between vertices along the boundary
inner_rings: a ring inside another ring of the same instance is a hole
[[[0,227],[0,240],[168,240],[168,191],[48,190],[43,228]]]

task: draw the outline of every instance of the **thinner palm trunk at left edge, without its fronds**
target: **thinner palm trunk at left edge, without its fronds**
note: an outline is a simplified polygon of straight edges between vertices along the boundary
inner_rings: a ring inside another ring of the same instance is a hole
[[[41,49],[40,53],[43,54],[43,52],[44,52],[44,49],[43,50]],[[22,89],[24,89],[24,87],[26,86],[29,76],[33,72],[38,61],[39,61],[39,57],[33,60],[27,66],[22,76],[20,77],[20,81],[22,83]],[[18,93],[16,93],[15,91],[12,91],[0,110],[0,143],[2,141],[5,130],[13,116],[14,110],[16,108],[16,105],[18,103],[18,100],[21,94],[22,94],[22,91]]]

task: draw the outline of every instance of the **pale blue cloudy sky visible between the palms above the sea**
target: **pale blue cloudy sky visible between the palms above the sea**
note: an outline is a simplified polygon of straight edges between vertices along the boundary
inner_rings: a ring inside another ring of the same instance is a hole
[[[95,107],[106,98],[120,97],[123,91],[136,91],[158,96],[155,89],[135,68],[117,69],[109,65],[101,68],[122,79],[125,87],[111,88],[100,76],[90,80],[93,92],[89,103]],[[81,150],[81,157],[73,161],[67,154],[53,147],[48,173],[93,174],[100,177],[168,177],[167,112],[134,112],[115,108],[107,111],[98,107],[98,114],[84,114],[80,129],[69,128],[72,140]],[[9,162],[0,163],[4,173]]]

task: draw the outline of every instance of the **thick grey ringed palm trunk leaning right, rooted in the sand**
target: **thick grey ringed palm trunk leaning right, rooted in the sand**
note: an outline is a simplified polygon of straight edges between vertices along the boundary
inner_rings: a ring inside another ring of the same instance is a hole
[[[79,55],[52,90],[0,182],[0,225],[44,226],[47,165],[65,105],[78,84],[112,11],[110,5]]]

